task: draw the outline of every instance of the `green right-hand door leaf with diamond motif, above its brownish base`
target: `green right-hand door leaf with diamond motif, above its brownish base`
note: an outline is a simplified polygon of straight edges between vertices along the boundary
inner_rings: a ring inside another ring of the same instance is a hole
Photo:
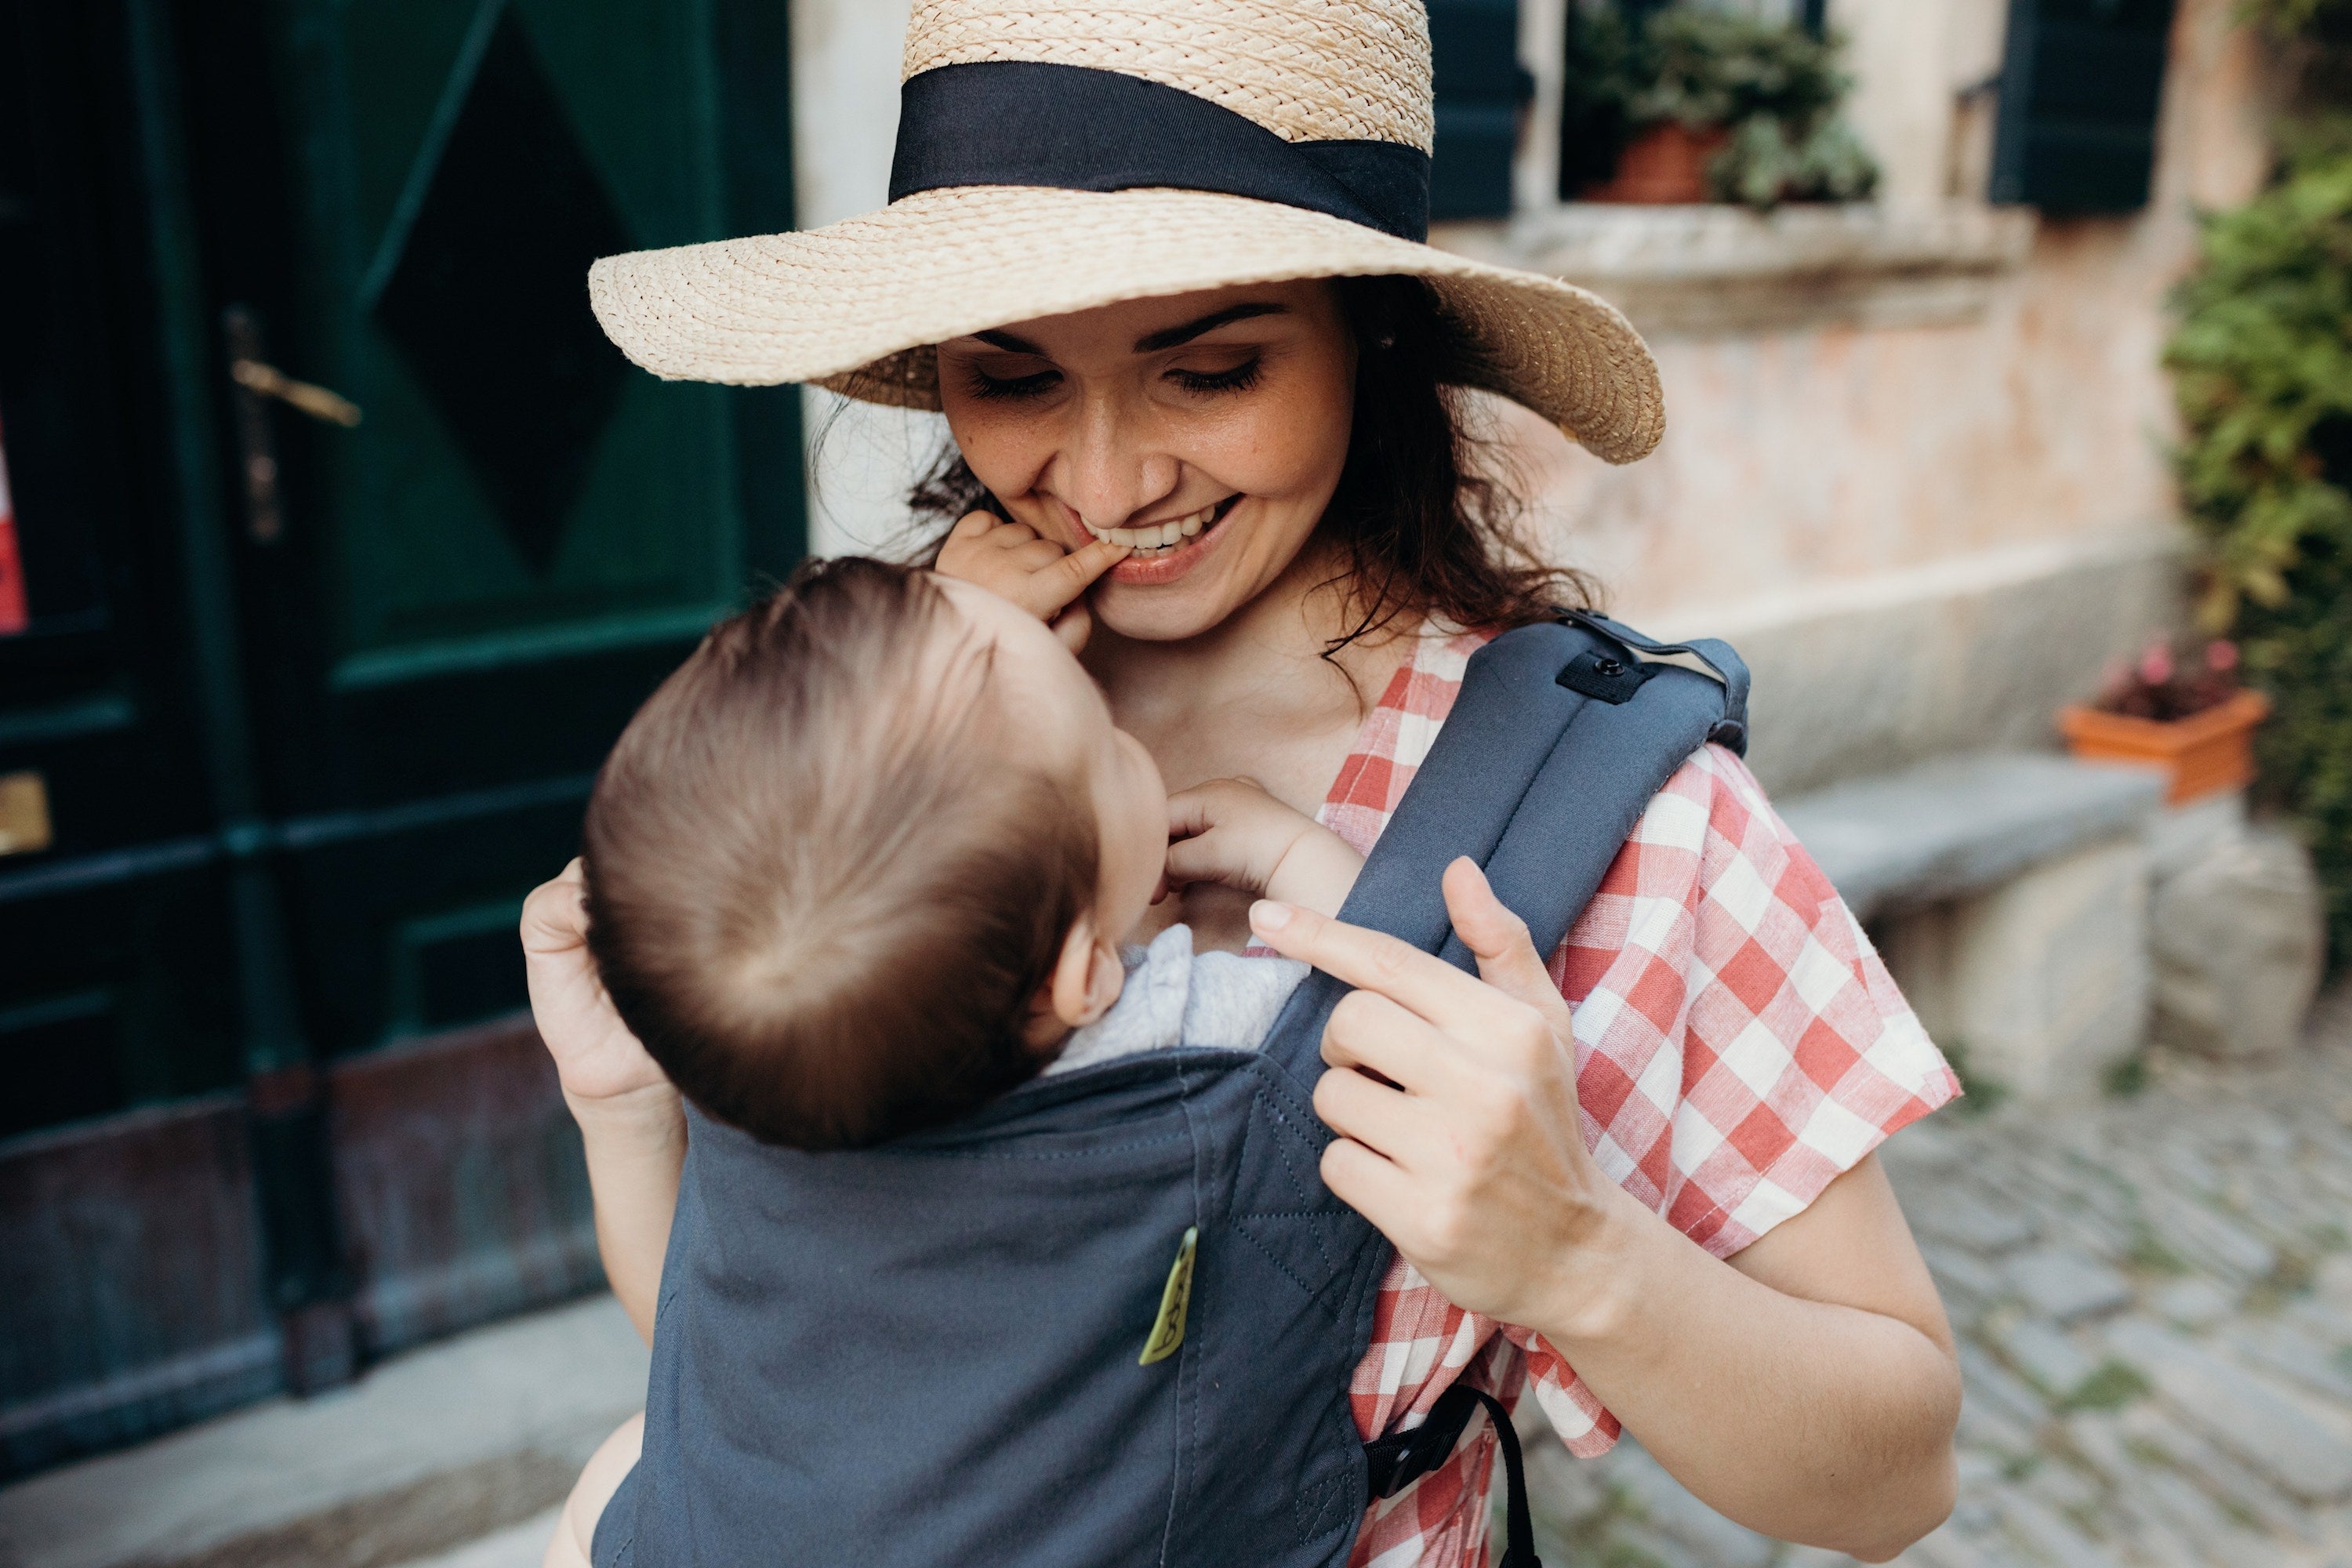
[[[783,141],[741,113],[729,139],[783,61],[708,0],[289,0],[282,26],[294,287],[261,353],[365,418],[270,414],[299,461],[268,454],[282,531],[247,543],[252,670],[306,1018],[341,1053],[517,1004],[520,891],[588,771],[797,552],[790,393],[654,381],[586,301],[600,254],[790,223]]]

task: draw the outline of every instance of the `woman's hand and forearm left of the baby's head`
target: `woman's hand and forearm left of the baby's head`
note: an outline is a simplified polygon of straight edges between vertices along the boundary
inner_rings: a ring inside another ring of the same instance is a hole
[[[687,1112],[604,994],[588,954],[583,893],[579,860],[532,891],[522,905],[522,966],[532,983],[532,1020],[588,1147],[604,1279],[652,1345],[661,1258],[687,1164]]]

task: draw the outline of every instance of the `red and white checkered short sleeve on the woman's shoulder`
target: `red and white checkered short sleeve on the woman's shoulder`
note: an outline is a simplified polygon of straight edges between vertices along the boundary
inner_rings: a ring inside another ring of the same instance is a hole
[[[1552,978],[1573,1009],[1585,1143],[1717,1258],[1959,1095],[1860,922],[1719,745],[1642,813]],[[1609,1448],[1616,1420],[1566,1361],[1503,1333],[1569,1448]]]

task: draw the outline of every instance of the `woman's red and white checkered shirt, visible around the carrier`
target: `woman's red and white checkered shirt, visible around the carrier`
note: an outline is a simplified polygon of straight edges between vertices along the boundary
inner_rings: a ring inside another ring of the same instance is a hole
[[[1430,755],[1484,635],[1430,635],[1367,717],[1322,820],[1369,851]],[[1573,1006],[1585,1143],[1717,1258],[1811,1204],[1889,1133],[1959,1093],[1860,924],[1748,766],[1693,755],[1642,813],[1552,954]],[[1456,1378],[1536,1403],[1571,1453],[1618,1425],[1526,1328],[1444,1300],[1402,1258],[1355,1373],[1367,1439],[1416,1427]],[[1482,1568],[1494,1432],[1374,1502],[1352,1563]]]

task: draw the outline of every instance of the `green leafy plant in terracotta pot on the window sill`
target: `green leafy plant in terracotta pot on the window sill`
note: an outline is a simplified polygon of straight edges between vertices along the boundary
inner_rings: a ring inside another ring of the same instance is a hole
[[[1564,183],[1588,202],[1853,202],[1877,165],[1839,118],[1844,40],[1738,12],[1573,12]]]

